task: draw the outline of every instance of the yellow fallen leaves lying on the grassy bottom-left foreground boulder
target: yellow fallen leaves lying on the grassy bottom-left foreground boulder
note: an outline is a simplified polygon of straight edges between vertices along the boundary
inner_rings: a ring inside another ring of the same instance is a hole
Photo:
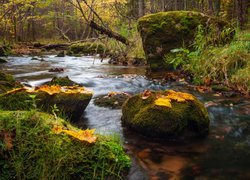
[[[86,129],[86,130],[80,130],[80,131],[73,131],[73,130],[65,130],[62,126],[54,125],[52,131],[56,134],[65,133],[70,135],[71,137],[74,137],[75,139],[78,139],[82,142],[88,142],[90,144],[93,144],[96,142],[97,137],[94,135],[95,129]]]

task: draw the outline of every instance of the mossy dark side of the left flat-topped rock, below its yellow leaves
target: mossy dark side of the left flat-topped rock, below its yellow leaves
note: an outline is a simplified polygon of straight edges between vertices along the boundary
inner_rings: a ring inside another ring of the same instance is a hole
[[[35,98],[32,99],[31,95],[34,95]],[[36,106],[42,111],[53,113],[53,107],[56,105],[59,109],[59,116],[66,116],[74,121],[80,119],[91,98],[91,93],[58,93],[49,95],[46,92],[16,92],[12,94],[2,94],[0,96],[0,109],[30,110]]]

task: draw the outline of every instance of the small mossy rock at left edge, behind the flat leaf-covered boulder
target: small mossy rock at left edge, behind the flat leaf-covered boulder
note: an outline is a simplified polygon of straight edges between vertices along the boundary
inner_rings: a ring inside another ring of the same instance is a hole
[[[0,71],[0,94],[17,87],[22,87],[22,85],[16,82],[11,74]]]

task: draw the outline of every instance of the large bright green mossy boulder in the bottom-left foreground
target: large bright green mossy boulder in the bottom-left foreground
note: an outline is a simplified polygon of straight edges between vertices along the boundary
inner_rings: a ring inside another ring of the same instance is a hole
[[[98,134],[88,143],[67,121],[37,111],[0,111],[0,179],[120,179],[130,158]]]

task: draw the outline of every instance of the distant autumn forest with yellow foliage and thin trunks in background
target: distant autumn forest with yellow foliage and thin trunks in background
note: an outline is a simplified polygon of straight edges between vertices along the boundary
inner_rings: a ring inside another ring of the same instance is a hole
[[[0,0],[0,40],[36,41],[39,39],[81,40],[97,36],[86,21],[109,26],[126,34],[125,27],[145,14],[159,11],[194,10],[237,22],[248,22],[248,0]],[[86,5],[86,2],[89,7]],[[96,14],[91,11],[93,8]],[[98,16],[104,24],[100,24]],[[122,32],[123,31],[123,32]]]

